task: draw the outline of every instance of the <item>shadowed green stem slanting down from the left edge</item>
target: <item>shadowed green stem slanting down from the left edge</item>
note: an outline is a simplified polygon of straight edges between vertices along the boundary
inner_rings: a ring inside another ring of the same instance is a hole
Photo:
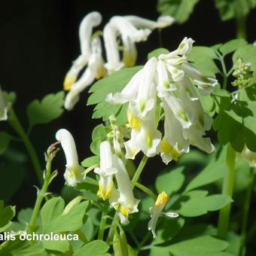
[[[35,152],[35,148],[33,147],[29,137],[26,135],[23,126],[20,124],[20,121],[17,118],[17,115],[14,112],[13,108],[9,108],[8,110],[8,122],[13,127],[13,129],[16,131],[16,133],[20,136],[20,139],[23,140],[23,143],[26,147],[26,150],[28,151],[30,160],[32,162],[32,165],[35,169],[35,175],[38,178],[40,186],[43,185],[43,176],[41,174],[41,165],[38,159],[38,155]]]

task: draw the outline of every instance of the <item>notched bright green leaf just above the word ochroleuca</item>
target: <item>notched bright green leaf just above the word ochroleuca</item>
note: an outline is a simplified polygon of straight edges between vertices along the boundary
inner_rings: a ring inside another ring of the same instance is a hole
[[[70,232],[81,228],[84,224],[84,215],[89,206],[89,202],[78,203],[64,211],[64,200],[61,197],[55,197],[48,200],[41,210],[41,220],[44,233],[50,232]]]

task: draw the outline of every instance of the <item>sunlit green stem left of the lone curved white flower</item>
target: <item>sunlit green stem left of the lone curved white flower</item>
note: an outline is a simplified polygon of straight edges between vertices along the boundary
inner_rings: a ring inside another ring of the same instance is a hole
[[[32,212],[32,216],[29,222],[29,231],[32,233],[35,231],[36,228],[36,219],[38,218],[38,214],[41,209],[41,203],[44,200],[45,194],[47,193],[48,186],[50,184],[50,170],[51,170],[51,160],[47,160],[46,164],[46,171],[45,171],[45,177],[44,177],[44,184],[41,190],[38,190],[38,197],[35,201],[35,206]]]

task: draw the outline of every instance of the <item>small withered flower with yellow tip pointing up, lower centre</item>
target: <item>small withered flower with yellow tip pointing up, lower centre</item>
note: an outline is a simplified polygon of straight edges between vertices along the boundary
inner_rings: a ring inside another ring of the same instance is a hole
[[[156,238],[156,227],[157,227],[157,221],[160,215],[166,215],[169,218],[176,218],[178,217],[178,214],[175,212],[162,212],[164,206],[166,206],[168,200],[168,196],[165,192],[162,192],[158,195],[156,203],[154,204],[154,207],[151,207],[150,213],[151,213],[151,220],[148,222],[148,230],[151,230],[153,237]]]

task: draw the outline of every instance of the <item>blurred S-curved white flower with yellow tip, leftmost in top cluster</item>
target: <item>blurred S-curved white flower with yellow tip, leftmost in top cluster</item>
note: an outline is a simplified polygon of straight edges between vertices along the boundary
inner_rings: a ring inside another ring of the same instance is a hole
[[[64,90],[70,90],[72,84],[78,78],[78,74],[84,66],[87,65],[88,59],[90,58],[91,48],[90,48],[90,36],[93,32],[93,27],[99,26],[102,22],[102,15],[97,11],[93,11],[87,14],[86,17],[81,21],[79,27],[79,39],[81,44],[81,55],[73,62],[71,69],[66,75],[64,80]]]

